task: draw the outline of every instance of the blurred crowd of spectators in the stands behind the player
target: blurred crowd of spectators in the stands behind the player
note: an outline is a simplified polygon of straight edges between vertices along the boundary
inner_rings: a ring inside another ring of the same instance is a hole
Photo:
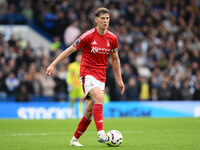
[[[36,55],[31,43],[0,34],[0,95],[17,101],[53,96],[64,101],[66,71],[73,56],[45,78],[49,63],[86,30],[95,26],[94,11],[107,7],[109,30],[117,35],[123,96],[109,60],[106,93],[113,101],[200,100],[200,0],[8,0],[1,14],[17,12],[55,37],[49,55]]]

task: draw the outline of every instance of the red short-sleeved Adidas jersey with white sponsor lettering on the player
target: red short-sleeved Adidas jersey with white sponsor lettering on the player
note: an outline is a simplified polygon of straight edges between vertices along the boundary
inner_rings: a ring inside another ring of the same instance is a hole
[[[108,55],[117,51],[117,37],[110,31],[100,35],[96,28],[82,34],[73,45],[82,48],[80,77],[92,75],[99,81],[106,81]]]

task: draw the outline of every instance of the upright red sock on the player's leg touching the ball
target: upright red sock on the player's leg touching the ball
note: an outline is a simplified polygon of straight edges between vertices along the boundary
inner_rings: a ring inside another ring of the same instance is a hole
[[[97,131],[103,130],[103,105],[94,104],[93,117],[96,124]]]

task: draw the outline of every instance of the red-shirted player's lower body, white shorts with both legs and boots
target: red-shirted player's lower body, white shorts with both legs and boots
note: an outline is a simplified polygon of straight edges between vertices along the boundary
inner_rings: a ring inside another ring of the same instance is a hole
[[[78,139],[89,126],[92,119],[92,115],[94,116],[94,120],[96,120],[95,123],[97,126],[98,137],[99,137],[98,141],[105,142],[106,135],[103,130],[104,95],[102,92],[104,91],[105,83],[96,80],[92,76],[86,76],[84,78],[80,78],[80,81],[86,96],[86,107],[85,107],[84,117],[80,121],[78,128],[74,134],[74,137],[71,140],[71,143],[75,141],[74,146],[82,146],[80,143],[78,143]]]

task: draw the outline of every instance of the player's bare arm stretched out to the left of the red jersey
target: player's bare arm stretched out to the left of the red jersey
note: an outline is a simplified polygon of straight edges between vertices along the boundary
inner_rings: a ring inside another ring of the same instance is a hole
[[[47,68],[46,70],[46,77],[50,76],[54,67],[63,59],[67,58],[71,53],[75,52],[77,50],[76,47],[74,47],[73,45],[71,45],[70,47],[68,47],[66,50],[64,50]]]

